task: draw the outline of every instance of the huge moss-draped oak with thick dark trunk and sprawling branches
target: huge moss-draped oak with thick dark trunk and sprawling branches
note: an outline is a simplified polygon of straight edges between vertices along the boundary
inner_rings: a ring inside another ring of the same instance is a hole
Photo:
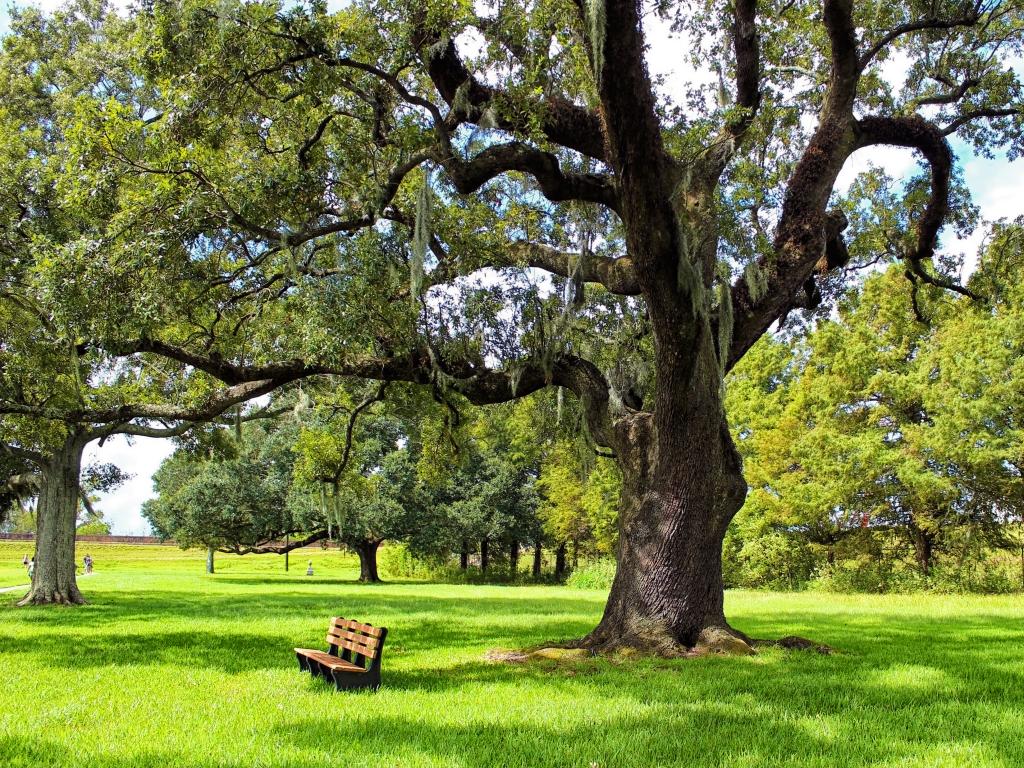
[[[710,86],[652,84],[658,15],[689,42],[656,52],[717,70]],[[624,481],[585,642],[736,638],[721,545],[746,483],[724,377],[864,260],[901,261],[908,292],[964,291],[932,263],[950,139],[1020,150],[1021,19],[1013,0],[156,3],[119,59],[140,109],[83,109],[80,175],[120,179],[112,242],[232,295],[187,332],[91,331],[229,385],[332,373],[479,404],[562,387]],[[883,144],[925,172],[851,262],[836,181]]]

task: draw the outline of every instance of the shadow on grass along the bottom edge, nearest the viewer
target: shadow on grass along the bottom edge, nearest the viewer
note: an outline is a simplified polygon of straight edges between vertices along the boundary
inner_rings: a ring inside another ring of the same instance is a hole
[[[426,722],[389,715],[307,719],[275,728],[272,735],[305,751],[345,744],[347,756],[356,761],[411,752],[431,763],[471,766],[850,765],[854,760],[891,765],[932,751],[948,755],[956,745],[964,745],[966,755],[977,754],[975,746],[981,743],[1007,765],[1021,756],[1013,736],[996,734],[993,739],[983,724],[965,723],[955,734],[926,729],[907,736],[881,731],[879,715],[861,710],[843,713],[829,731],[814,727],[817,718],[831,715],[827,709],[723,696],[721,689],[717,695],[675,705],[632,711],[618,707],[613,714],[590,719],[554,716],[547,722],[480,722],[471,708],[461,721],[451,711],[449,717]]]

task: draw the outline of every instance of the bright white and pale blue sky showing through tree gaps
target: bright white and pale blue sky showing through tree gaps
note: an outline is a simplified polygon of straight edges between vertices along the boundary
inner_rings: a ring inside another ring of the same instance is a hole
[[[5,0],[0,8],[0,35],[8,29],[9,3]],[[35,5],[43,10],[53,10],[62,5],[58,0],[43,0],[33,3],[17,3],[19,6]],[[129,7],[126,0],[115,0],[116,7]],[[342,2],[329,3],[340,6]],[[650,43],[648,66],[652,75],[664,75],[668,87],[682,90],[681,83],[692,80],[692,73],[686,71],[686,56],[680,51],[685,50],[686,42],[673,37],[664,25],[652,24],[648,27],[647,37]],[[896,65],[898,68],[898,63]],[[901,76],[901,72],[894,72]],[[1024,161],[1009,163],[1005,158],[986,159],[973,156],[963,146],[953,145],[961,160],[965,180],[971,189],[974,202],[982,211],[982,216],[988,220],[999,218],[1015,218],[1024,215]],[[846,188],[856,175],[867,168],[868,163],[880,166],[896,178],[905,177],[916,167],[912,153],[897,147],[870,147],[861,150],[847,161],[837,182],[838,188]],[[948,243],[948,250],[961,251],[967,254],[977,252],[983,231],[979,228],[974,234],[959,243]],[[146,437],[133,438],[130,442],[123,435],[109,439],[103,445],[92,443],[86,452],[86,462],[111,462],[130,473],[131,479],[119,488],[103,494],[97,507],[110,521],[113,532],[122,535],[141,535],[150,532],[148,523],[141,516],[143,502],[154,496],[153,473],[174,450],[171,440]]]

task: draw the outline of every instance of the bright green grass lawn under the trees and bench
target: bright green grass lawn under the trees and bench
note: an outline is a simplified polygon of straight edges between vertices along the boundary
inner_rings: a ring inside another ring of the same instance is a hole
[[[1019,596],[729,593],[750,634],[842,652],[513,666],[483,653],[581,635],[603,594],[360,586],[336,552],[307,579],[304,555],[208,577],[201,552],[90,551],[88,606],[0,595],[0,766],[1024,765]],[[15,575],[22,554],[0,543]],[[337,613],[390,628],[379,693],[299,674],[292,647]]]

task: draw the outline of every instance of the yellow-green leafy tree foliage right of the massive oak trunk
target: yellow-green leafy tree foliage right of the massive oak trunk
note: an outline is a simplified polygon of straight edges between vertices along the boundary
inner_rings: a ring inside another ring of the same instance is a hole
[[[727,546],[752,567],[768,558],[806,577],[795,539],[831,561],[846,541],[877,558],[883,537],[928,578],[940,552],[1001,546],[1021,504],[1021,304],[1013,290],[988,307],[926,290],[908,300],[902,281],[869,278],[836,321],[792,349],[764,340],[733,372],[752,489]]]

